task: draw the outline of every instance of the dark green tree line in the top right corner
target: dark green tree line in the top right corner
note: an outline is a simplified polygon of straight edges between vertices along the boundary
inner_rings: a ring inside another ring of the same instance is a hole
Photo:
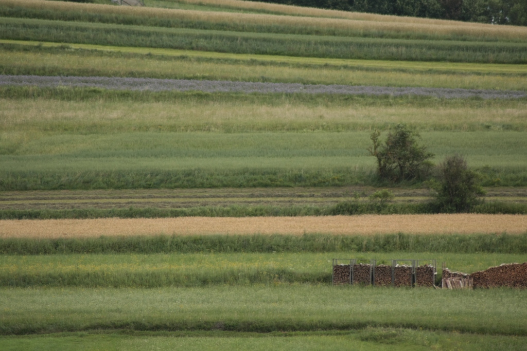
[[[527,26],[527,0],[260,0],[267,3]]]

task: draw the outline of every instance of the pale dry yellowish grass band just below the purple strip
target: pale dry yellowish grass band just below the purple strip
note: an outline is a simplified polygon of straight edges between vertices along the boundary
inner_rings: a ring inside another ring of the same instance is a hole
[[[137,129],[167,131],[304,131],[311,129],[367,130],[395,122],[419,129],[483,129],[513,125],[525,129],[527,103],[512,106],[309,106],[188,99],[178,102],[66,102],[38,99],[0,99],[0,127],[4,132],[41,131],[53,128],[132,132]]]

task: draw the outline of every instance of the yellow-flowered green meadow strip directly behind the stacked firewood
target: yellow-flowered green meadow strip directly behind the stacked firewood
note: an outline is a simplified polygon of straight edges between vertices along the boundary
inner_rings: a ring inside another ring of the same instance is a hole
[[[437,246],[440,246],[438,244],[440,240],[440,238],[435,238]],[[434,240],[431,241],[434,242]],[[481,238],[480,241],[482,241]],[[150,255],[131,252],[125,255],[3,255],[0,257],[0,284],[6,287],[35,288],[41,286],[158,288],[222,284],[251,286],[253,284],[306,283],[329,285],[331,284],[331,259],[335,257],[364,257],[386,260],[386,262],[391,259],[409,257],[433,258],[440,263],[446,262],[452,270],[466,273],[484,270],[503,262],[522,262],[525,259],[524,254],[428,252],[246,252]],[[438,271],[441,277],[441,269],[438,268]]]

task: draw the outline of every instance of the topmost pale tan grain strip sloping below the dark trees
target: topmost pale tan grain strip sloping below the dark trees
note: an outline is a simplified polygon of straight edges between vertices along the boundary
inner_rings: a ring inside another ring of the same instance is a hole
[[[395,17],[360,14],[359,18],[317,18],[287,15],[229,13],[217,11],[193,11],[154,7],[109,6],[73,2],[43,0],[0,0],[0,5],[62,12],[87,12],[93,14],[115,14],[121,16],[143,16],[191,22],[229,23],[250,26],[293,26],[322,28],[325,31],[419,33],[428,35],[469,35],[475,38],[526,39],[527,28],[520,26],[494,26],[480,23],[438,21],[423,18]],[[318,10],[320,11],[320,10]],[[368,18],[368,19],[366,19]],[[384,21],[379,21],[379,18]],[[403,18],[397,21],[396,18]]]

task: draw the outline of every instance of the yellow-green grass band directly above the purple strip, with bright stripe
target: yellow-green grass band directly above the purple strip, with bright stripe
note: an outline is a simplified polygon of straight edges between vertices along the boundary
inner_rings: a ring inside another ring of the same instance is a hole
[[[9,41],[13,43],[13,41]],[[25,42],[14,42],[25,43]],[[32,44],[37,44],[33,43]],[[200,51],[73,45],[4,45],[3,74],[212,79],[246,82],[525,90],[525,65],[436,64],[208,54]],[[15,49],[13,49],[15,48]],[[97,49],[97,52],[86,49]],[[119,51],[120,54],[112,54]],[[152,54],[152,55],[149,55]]]

